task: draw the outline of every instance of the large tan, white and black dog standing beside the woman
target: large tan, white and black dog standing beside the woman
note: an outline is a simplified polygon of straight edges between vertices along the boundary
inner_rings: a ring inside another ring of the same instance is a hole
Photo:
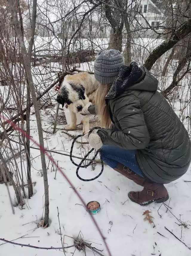
[[[76,129],[76,115],[80,114],[82,108],[89,102],[95,104],[96,91],[98,89],[98,81],[94,75],[87,72],[80,72],[74,75],[67,75],[59,82],[59,90],[56,101],[64,107],[67,105],[71,124],[65,125],[65,130]],[[83,134],[89,132],[89,116],[83,116]]]

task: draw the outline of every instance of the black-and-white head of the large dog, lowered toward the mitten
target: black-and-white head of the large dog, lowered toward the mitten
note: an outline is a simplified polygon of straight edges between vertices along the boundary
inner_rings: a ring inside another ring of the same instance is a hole
[[[85,106],[84,99],[86,99],[86,94],[83,85],[72,81],[61,83],[56,100],[62,107],[64,107],[64,103],[67,103],[74,113],[78,113]]]

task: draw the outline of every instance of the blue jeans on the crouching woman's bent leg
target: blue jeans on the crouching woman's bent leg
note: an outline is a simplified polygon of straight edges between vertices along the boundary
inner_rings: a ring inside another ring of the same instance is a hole
[[[114,169],[117,167],[118,163],[121,163],[141,177],[145,177],[138,165],[136,150],[126,150],[115,146],[103,145],[100,153],[104,163],[111,168]]]

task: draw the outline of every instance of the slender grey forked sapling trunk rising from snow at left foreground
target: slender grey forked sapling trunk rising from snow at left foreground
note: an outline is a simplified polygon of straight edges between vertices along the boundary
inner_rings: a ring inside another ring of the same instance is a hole
[[[36,114],[36,121],[37,121],[37,127],[38,127],[38,137],[39,137],[39,143],[41,147],[44,148],[44,140],[43,140],[43,131],[42,131],[42,124],[41,124],[41,116],[39,111],[39,106],[36,98],[35,93],[35,87],[33,84],[33,77],[31,73],[31,53],[32,53],[32,47],[34,42],[34,32],[35,32],[35,24],[36,24],[36,0],[33,0],[33,15],[32,15],[32,25],[31,25],[31,36],[30,36],[30,44],[29,44],[29,51],[27,53],[26,47],[24,45],[24,38],[21,33],[21,27],[19,25],[19,20],[16,12],[16,5],[13,0],[8,0],[9,6],[10,6],[10,13],[12,16],[13,24],[15,27],[16,35],[19,39],[19,45],[21,48],[22,53],[22,60],[24,64],[24,69],[26,72],[26,78],[28,81],[28,85],[30,86],[30,92],[33,99],[35,114]],[[44,179],[44,226],[48,225],[49,220],[49,192],[48,192],[48,177],[47,177],[47,168],[46,168],[46,160],[45,155],[42,151],[41,152],[41,163],[42,163],[42,171],[43,171],[43,179]]]

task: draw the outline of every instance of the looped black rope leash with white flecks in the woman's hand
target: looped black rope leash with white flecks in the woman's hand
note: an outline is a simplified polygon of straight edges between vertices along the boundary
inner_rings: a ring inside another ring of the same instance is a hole
[[[101,129],[100,127],[94,127],[92,129],[90,129],[89,133],[88,133],[88,137],[89,135],[93,132],[93,130],[96,130],[96,129]],[[98,149],[98,151],[96,151],[96,154],[95,156],[92,158],[92,160],[87,164],[87,165],[82,165],[84,160],[86,160],[86,158],[89,156],[89,154],[94,150],[94,148],[92,148],[85,156],[84,158],[81,160],[81,162],[79,164],[76,164],[73,159],[72,159],[72,151],[73,151],[73,147],[74,147],[74,143],[76,142],[76,140],[79,138],[79,137],[83,137],[84,134],[80,134],[78,136],[76,136],[72,142],[72,146],[71,146],[71,149],[70,149],[70,160],[71,162],[77,166],[77,169],[76,169],[76,176],[78,177],[78,179],[82,180],[82,181],[92,181],[92,180],[96,180],[103,172],[104,170],[104,163],[103,163],[103,160],[101,158],[101,154],[100,154],[100,160],[101,160],[101,172],[94,178],[92,179],[83,179],[81,178],[79,175],[78,175],[78,171],[79,171],[79,168],[86,168],[88,166],[91,165],[91,163],[93,163],[93,161],[96,159],[96,156],[98,155],[98,153],[100,152],[100,149]]]

